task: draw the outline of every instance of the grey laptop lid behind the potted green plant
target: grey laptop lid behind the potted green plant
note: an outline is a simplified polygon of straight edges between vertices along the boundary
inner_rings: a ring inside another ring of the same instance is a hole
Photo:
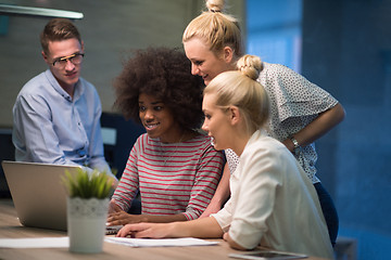
[[[66,231],[67,194],[61,176],[79,167],[10,160],[2,167],[21,224]]]

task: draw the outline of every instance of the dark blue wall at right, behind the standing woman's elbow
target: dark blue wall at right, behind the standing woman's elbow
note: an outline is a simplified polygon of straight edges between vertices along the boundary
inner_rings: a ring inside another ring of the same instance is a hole
[[[358,259],[391,247],[391,1],[304,0],[302,73],[333,93],[345,120],[317,142],[319,173]]]

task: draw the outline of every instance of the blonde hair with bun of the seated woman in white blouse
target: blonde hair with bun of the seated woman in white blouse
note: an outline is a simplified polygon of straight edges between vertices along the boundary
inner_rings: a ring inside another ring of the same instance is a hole
[[[204,89],[204,94],[216,93],[216,106],[231,105],[244,117],[247,130],[252,134],[265,127],[269,118],[269,100],[263,86],[256,81],[263,69],[258,56],[244,55],[237,63],[238,70],[217,75]]]

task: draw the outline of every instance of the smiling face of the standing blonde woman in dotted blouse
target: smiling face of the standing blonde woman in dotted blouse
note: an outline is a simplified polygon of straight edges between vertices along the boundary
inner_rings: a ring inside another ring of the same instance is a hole
[[[232,53],[226,53],[222,50],[220,55],[216,55],[210,50],[209,44],[198,37],[193,37],[184,42],[186,56],[191,62],[191,74],[199,75],[207,86],[218,74],[232,70]]]

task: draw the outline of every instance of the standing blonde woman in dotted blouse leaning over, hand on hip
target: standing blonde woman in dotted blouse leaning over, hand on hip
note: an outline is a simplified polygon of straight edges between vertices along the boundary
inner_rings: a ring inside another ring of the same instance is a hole
[[[224,1],[210,0],[206,1],[206,6],[207,12],[189,23],[182,42],[192,64],[191,73],[201,76],[207,86],[220,73],[236,69],[236,63],[243,54],[243,47],[238,22],[223,13]],[[261,66],[256,80],[264,86],[270,99],[267,133],[291,151],[313,182],[330,240],[335,244],[338,214],[330,195],[316,177],[317,154],[314,142],[343,120],[344,109],[331,94],[292,69],[266,62],[262,62]],[[239,157],[232,150],[226,150],[225,153],[225,172],[215,196],[201,217],[218,211],[229,196],[229,172],[234,173]]]

